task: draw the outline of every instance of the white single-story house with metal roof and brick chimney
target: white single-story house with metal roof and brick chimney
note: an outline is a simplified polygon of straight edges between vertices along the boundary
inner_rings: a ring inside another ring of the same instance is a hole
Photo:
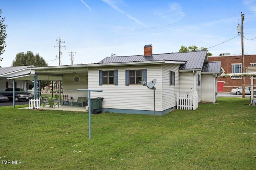
[[[91,98],[104,98],[103,112],[154,113],[154,94],[143,85],[153,79],[156,115],[177,107],[177,95],[198,95],[198,103],[217,101],[217,79],[220,62],[209,62],[207,51],[153,54],[145,45],[144,55],[106,57],[94,64],[33,68],[28,79],[62,80],[63,94],[69,98],[87,97],[77,89],[95,89]],[[18,78],[18,77],[17,77]],[[13,79],[17,79],[13,77]],[[55,79],[54,79],[55,78]],[[24,77],[23,77],[24,79]]]

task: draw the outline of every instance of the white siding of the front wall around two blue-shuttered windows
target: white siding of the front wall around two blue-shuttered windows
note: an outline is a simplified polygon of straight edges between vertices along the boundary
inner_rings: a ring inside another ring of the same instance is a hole
[[[88,89],[103,90],[103,92],[92,92],[91,98],[103,97],[102,107],[107,109],[137,109],[154,111],[154,91],[146,86],[138,84],[125,84],[125,70],[142,70],[147,69],[147,82],[157,79],[156,81],[156,111],[161,110],[161,72],[160,65],[152,66],[115,66],[108,67],[106,70],[118,70],[118,86],[108,85],[99,86],[99,70],[101,68],[89,68],[88,70]]]

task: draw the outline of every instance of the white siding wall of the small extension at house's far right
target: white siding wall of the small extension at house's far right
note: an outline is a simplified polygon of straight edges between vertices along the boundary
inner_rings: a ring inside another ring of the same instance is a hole
[[[216,81],[217,82],[217,81]],[[216,84],[215,82],[215,84]],[[214,76],[202,74],[202,102],[213,102],[214,98]],[[215,85],[217,87],[217,84]]]

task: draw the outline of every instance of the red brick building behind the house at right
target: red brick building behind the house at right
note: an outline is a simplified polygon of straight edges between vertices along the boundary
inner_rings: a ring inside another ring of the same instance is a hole
[[[217,57],[208,57],[209,62],[221,61],[222,73],[241,73],[242,72],[242,55],[223,55]],[[244,55],[244,65],[255,66],[256,55]],[[245,84],[250,84],[250,77],[245,77]],[[256,84],[254,78],[253,84]],[[230,92],[232,88],[242,86],[242,77],[218,77],[218,92]],[[256,89],[256,87],[254,87]]]

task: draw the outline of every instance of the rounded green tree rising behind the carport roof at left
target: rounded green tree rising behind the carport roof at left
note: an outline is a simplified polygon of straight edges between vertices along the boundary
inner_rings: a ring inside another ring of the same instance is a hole
[[[44,58],[40,57],[39,54],[34,55],[31,51],[27,53],[18,53],[14,61],[12,61],[12,66],[29,66],[33,65],[36,67],[48,66]],[[41,88],[44,88],[50,84],[50,81],[41,81]],[[29,85],[31,89],[33,86]]]

